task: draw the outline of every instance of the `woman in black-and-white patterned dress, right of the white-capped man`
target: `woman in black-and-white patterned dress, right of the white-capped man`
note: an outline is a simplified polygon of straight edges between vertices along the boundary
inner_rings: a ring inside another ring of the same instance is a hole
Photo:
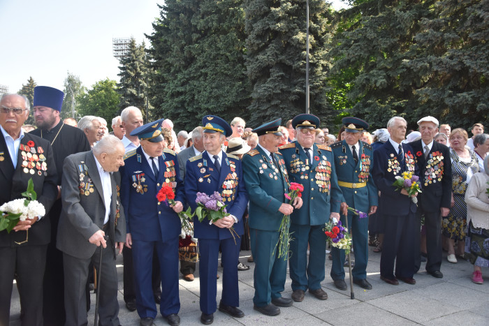
[[[479,161],[474,151],[465,148],[467,131],[456,128],[450,134],[450,158],[452,163],[452,207],[450,214],[443,217],[441,228],[443,235],[448,238],[449,262],[457,262],[455,257],[455,240],[458,240],[457,255],[464,255],[465,230],[467,228],[467,204],[465,191],[470,178],[479,172]]]

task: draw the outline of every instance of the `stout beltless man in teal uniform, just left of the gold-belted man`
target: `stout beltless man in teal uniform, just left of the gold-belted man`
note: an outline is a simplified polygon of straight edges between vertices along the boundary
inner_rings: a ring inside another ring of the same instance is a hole
[[[326,264],[326,235],[324,224],[330,217],[340,219],[342,193],[335,174],[335,162],[330,147],[316,145],[315,131],[319,118],[312,114],[299,114],[292,119],[295,142],[280,147],[289,181],[304,186],[304,205],[291,215],[291,256],[289,258],[292,279],[292,299],[301,302],[305,291],[326,300],[328,295],[321,288]],[[309,244],[309,261],[307,259]]]

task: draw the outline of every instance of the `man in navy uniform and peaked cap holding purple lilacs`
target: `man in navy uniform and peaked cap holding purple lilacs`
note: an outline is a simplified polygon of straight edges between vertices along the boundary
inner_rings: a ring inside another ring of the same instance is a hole
[[[205,151],[187,161],[185,175],[185,195],[192,210],[197,207],[197,193],[212,195],[217,191],[224,203],[229,216],[219,221],[199,222],[194,217],[194,236],[198,238],[200,249],[200,322],[211,324],[214,311],[217,309],[217,265],[219,246],[224,266],[222,296],[219,311],[233,317],[243,317],[244,313],[237,307],[240,305],[238,289],[238,248],[241,239],[233,239],[230,228],[241,237],[243,234],[242,216],[248,203],[248,195],[242,179],[242,165],[238,157],[226,154],[221,149],[226,137],[233,131],[223,119],[207,115],[202,119],[204,129]]]

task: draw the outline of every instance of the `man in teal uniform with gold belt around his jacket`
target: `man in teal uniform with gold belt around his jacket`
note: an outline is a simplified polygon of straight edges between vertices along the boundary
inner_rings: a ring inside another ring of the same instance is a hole
[[[331,145],[335,156],[336,175],[338,184],[342,189],[342,211],[346,205],[366,214],[377,212],[377,187],[370,177],[370,169],[373,165],[374,155],[372,147],[366,142],[360,141],[362,132],[368,128],[367,122],[346,117],[342,119],[345,126],[345,139]],[[346,202],[346,204],[344,204]],[[355,251],[355,267],[353,267],[353,283],[370,290],[372,285],[367,281],[368,260],[368,217],[360,218],[352,212],[347,213],[349,230],[352,233],[353,249]],[[342,223],[345,215],[342,214]],[[343,250],[331,249],[333,266],[331,278],[335,286],[340,290],[346,290],[344,281]]]

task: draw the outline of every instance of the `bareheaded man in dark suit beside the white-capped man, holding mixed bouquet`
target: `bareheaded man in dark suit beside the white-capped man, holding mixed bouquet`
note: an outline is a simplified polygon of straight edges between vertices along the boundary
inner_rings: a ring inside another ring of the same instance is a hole
[[[413,279],[416,254],[419,253],[419,223],[416,220],[416,204],[405,189],[397,191],[393,183],[402,172],[418,175],[413,149],[401,144],[406,135],[407,122],[402,117],[388,121],[387,130],[391,137],[374,151],[372,178],[379,191],[380,206],[385,216],[384,245],[380,260],[380,278],[386,283],[399,284],[397,279],[415,284]],[[416,194],[417,195],[417,194]],[[394,272],[395,262],[395,272]]]

